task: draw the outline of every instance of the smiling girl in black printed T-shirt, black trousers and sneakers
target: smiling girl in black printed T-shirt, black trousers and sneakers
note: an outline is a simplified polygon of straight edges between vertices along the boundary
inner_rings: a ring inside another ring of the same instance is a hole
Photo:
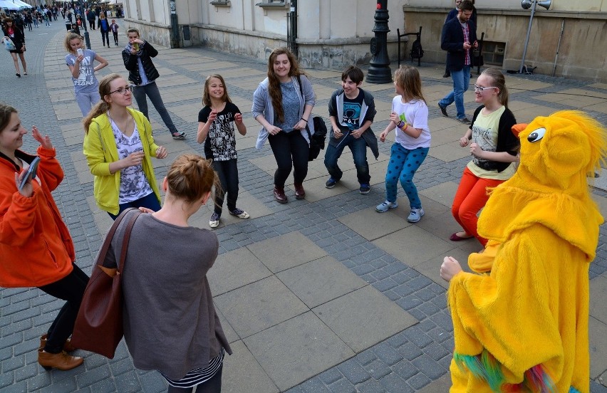
[[[205,106],[198,113],[197,141],[204,141],[204,155],[213,160],[213,169],[222,184],[222,189],[215,192],[215,209],[209,220],[209,226],[217,228],[226,192],[229,214],[240,219],[249,218],[247,211],[236,207],[238,167],[234,124],[240,135],[247,134],[247,127],[242,122],[242,113],[229,98],[222,75],[209,75],[204,81],[202,103]]]

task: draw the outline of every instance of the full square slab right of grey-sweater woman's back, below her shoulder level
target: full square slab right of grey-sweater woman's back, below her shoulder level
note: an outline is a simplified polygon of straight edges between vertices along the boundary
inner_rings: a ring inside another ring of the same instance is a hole
[[[214,302],[243,338],[309,310],[275,276],[216,296]]]

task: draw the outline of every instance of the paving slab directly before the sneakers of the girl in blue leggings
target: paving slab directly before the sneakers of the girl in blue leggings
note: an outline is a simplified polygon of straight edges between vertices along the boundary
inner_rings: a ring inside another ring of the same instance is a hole
[[[378,201],[378,204],[380,203]],[[378,213],[374,207],[341,216],[338,220],[369,241],[392,234],[411,225],[397,214]]]

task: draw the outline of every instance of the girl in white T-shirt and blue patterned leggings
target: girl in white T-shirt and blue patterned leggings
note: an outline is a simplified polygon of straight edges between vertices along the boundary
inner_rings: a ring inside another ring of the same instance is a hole
[[[413,176],[430,150],[428,107],[417,68],[401,66],[394,73],[394,85],[398,95],[392,100],[391,121],[380,134],[380,141],[385,142],[385,137],[395,128],[396,137],[385,174],[385,201],[375,209],[383,213],[398,206],[396,192],[400,180],[411,207],[407,221],[417,222],[424,215],[424,209]]]

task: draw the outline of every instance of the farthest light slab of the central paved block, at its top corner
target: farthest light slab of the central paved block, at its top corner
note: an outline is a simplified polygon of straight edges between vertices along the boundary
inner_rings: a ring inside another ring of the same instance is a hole
[[[299,231],[247,246],[272,273],[278,273],[326,256],[322,248]]]

